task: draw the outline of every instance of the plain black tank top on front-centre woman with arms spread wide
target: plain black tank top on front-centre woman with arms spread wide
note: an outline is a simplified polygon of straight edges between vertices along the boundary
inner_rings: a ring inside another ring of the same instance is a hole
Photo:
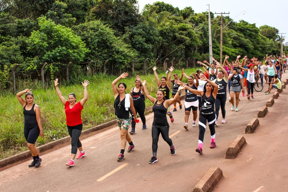
[[[158,101],[156,101],[152,107],[152,110],[154,112],[154,120],[152,125],[169,127],[166,116],[167,108],[164,107],[164,101],[159,105],[157,104],[157,102]]]

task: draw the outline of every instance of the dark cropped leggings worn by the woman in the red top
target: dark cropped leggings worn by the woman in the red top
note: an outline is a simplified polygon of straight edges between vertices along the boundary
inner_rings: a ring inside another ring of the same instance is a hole
[[[76,154],[77,148],[82,147],[82,143],[79,140],[79,137],[80,137],[81,132],[82,132],[82,127],[83,127],[82,123],[79,125],[76,125],[76,126],[68,126],[67,125],[68,133],[71,137],[71,153],[72,154]]]

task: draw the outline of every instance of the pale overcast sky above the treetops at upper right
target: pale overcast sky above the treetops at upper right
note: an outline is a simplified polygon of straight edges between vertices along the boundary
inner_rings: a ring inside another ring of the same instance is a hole
[[[161,1],[161,0],[160,0]],[[245,20],[255,23],[257,27],[269,25],[279,30],[283,37],[288,37],[288,0],[163,0],[165,3],[183,9],[192,7],[195,13],[205,12],[210,4],[210,12],[230,12],[230,18],[234,21]],[[142,12],[144,5],[153,4],[155,0],[138,0],[139,11]],[[243,15],[242,12],[246,11]],[[240,13],[240,14],[239,14]],[[237,16],[238,15],[238,16]],[[281,36],[281,34],[280,34]],[[285,38],[285,42],[288,38]]]

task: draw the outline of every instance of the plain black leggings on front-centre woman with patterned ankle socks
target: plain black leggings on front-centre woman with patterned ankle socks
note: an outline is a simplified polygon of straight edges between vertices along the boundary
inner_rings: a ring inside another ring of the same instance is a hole
[[[173,145],[172,140],[169,138],[169,127],[152,125],[152,151],[153,152],[156,152],[158,149],[158,140],[159,140],[160,133],[164,141],[166,141],[169,146]]]

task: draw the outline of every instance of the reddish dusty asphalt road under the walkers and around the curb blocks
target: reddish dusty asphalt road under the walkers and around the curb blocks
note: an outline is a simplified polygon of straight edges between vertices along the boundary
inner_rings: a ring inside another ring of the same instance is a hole
[[[287,77],[284,73],[283,79]],[[151,113],[146,116],[147,130],[141,130],[141,121],[137,124],[136,134],[132,135],[136,147],[127,153],[127,143],[123,161],[116,160],[120,153],[120,131],[113,127],[81,140],[86,156],[75,159],[74,167],[65,166],[71,153],[68,145],[40,154],[39,168],[28,168],[31,158],[2,170],[0,191],[192,191],[212,166],[223,171],[223,178],[214,191],[287,191],[287,89],[268,108],[266,117],[259,118],[260,126],[255,133],[245,134],[249,121],[272,97],[264,91],[254,92],[255,99],[251,100],[241,96],[238,112],[231,111],[231,104],[226,102],[227,123],[216,126],[214,149],[209,148],[210,131],[207,129],[202,155],[195,152],[198,122],[197,127],[192,128],[191,115],[189,130],[185,130],[184,107],[180,110],[177,106],[177,111],[173,112],[175,121],[169,122],[169,134],[176,147],[174,156],[160,136],[158,162],[148,163],[152,156]],[[228,147],[239,135],[245,137],[247,145],[236,159],[225,159]]]

